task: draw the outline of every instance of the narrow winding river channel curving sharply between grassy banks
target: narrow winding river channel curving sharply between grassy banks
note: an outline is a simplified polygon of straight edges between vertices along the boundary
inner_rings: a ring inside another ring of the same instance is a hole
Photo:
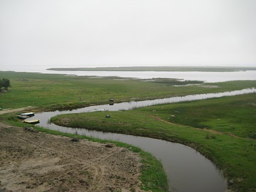
[[[40,124],[38,125],[47,129],[129,143],[152,153],[164,165],[171,191],[223,192],[227,189],[227,184],[222,173],[217,170],[216,166],[214,166],[210,160],[206,159],[205,156],[201,155],[193,148],[184,146],[183,144],[162,141],[160,139],[57,126],[50,123],[50,118],[60,114],[85,113],[97,109],[105,109],[109,111],[131,110],[156,104],[203,100],[207,98],[241,95],[253,92],[256,92],[255,88],[215,94],[171,97],[150,101],[115,103],[112,106],[104,104],[74,110],[56,110],[55,112],[38,113],[33,119],[40,119]]]

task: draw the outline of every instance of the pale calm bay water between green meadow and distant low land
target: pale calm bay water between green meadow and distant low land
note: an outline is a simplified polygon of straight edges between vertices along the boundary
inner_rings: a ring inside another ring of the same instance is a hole
[[[46,66],[47,67],[47,66]],[[54,66],[49,66],[54,67]],[[64,66],[75,67],[75,66]],[[124,72],[124,71],[49,71],[45,66],[24,66],[24,67],[1,67],[1,71],[17,71],[17,72],[38,72],[50,74],[74,74],[82,76],[97,77],[126,77],[126,78],[175,78],[183,80],[201,80],[204,82],[226,82],[230,80],[256,80],[256,71],[236,71],[236,72]]]

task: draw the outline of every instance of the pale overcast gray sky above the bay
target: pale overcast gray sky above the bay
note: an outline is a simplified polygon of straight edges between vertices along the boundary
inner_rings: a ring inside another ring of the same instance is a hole
[[[0,65],[256,66],[256,0],[0,0]]]

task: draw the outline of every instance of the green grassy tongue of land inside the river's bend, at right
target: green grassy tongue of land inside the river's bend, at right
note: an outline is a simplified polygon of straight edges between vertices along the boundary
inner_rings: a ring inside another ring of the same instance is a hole
[[[234,183],[256,189],[256,94],[162,104],[130,111],[59,115],[55,124],[147,136],[187,144]],[[106,118],[109,114],[110,118]],[[200,129],[199,129],[200,128]]]

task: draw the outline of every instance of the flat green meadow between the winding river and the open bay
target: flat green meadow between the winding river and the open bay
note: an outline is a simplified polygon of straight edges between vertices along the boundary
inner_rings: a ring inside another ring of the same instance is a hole
[[[8,93],[1,93],[0,107],[15,109],[37,107],[40,110],[67,109],[115,102],[153,100],[209,92],[241,90],[256,86],[256,80],[202,83],[179,82],[158,78],[153,82],[143,79],[118,77],[80,77],[63,74],[41,74],[0,71],[0,78],[10,80]],[[187,85],[190,86],[174,86]]]

